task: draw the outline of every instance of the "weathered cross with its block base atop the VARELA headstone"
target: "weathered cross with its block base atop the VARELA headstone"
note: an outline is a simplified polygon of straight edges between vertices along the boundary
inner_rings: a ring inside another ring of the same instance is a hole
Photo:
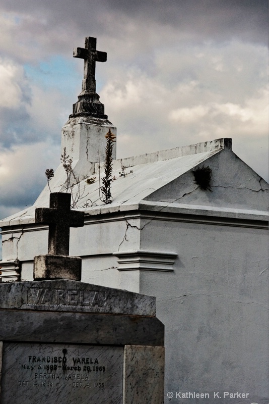
[[[34,257],[34,280],[81,280],[80,257],[69,256],[70,227],[84,226],[84,212],[71,211],[71,194],[50,194],[49,208],[35,210],[35,222],[48,224],[48,254]]]

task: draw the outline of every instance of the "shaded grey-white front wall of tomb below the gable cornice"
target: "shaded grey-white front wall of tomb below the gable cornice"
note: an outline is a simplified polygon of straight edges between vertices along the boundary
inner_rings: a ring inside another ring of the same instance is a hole
[[[172,218],[144,227],[143,249],[178,253],[173,273],[140,275],[140,292],[157,296],[165,324],[165,391],[245,391],[265,404],[267,246],[266,229]]]

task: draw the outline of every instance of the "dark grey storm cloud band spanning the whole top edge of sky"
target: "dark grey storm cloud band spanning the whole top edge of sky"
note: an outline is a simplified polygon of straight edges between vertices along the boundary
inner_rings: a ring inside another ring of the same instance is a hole
[[[140,20],[173,26],[187,32],[192,40],[229,40],[232,37],[263,43],[268,40],[267,0],[4,0],[2,5],[7,11],[34,16],[36,20],[28,20],[26,24],[30,29],[33,25],[36,35],[38,31],[57,26],[65,26],[66,34],[68,24],[73,37],[75,31],[101,35],[111,32],[112,28],[117,36],[121,17],[125,16],[134,24]],[[63,51],[65,39],[55,37],[54,46],[58,44]]]

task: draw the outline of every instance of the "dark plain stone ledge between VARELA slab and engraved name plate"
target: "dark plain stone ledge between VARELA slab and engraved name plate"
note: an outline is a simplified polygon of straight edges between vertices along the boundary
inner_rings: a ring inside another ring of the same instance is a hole
[[[0,322],[0,341],[164,346],[156,317],[0,309]]]

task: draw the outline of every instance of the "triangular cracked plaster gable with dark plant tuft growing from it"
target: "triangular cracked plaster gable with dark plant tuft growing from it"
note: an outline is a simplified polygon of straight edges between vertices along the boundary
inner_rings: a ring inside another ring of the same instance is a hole
[[[268,211],[268,184],[230,149],[198,167],[212,169],[212,191],[201,190],[190,171],[159,188],[145,200]]]

